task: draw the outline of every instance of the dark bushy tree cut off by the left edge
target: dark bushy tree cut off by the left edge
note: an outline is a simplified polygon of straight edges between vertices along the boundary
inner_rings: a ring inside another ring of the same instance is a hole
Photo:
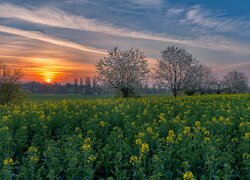
[[[22,76],[23,74],[20,69],[0,63],[0,104],[9,104],[10,101],[22,96]]]

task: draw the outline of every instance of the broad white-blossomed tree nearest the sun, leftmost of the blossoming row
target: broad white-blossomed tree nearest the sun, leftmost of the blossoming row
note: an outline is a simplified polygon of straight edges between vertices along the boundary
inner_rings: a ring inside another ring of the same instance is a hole
[[[149,73],[144,53],[133,48],[125,51],[114,48],[100,59],[96,68],[98,81],[121,92],[124,98],[134,95]]]

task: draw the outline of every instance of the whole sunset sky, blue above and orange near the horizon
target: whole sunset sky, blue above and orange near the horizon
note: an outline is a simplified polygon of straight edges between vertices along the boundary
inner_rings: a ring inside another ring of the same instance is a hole
[[[249,0],[0,0],[0,62],[25,81],[95,75],[107,51],[139,48],[149,67],[167,46],[187,49],[218,76],[250,79]]]

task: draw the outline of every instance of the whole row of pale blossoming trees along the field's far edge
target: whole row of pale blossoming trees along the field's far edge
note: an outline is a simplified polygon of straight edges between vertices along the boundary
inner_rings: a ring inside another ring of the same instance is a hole
[[[184,48],[169,46],[161,52],[156,68],[150,72],[146,56],[139,49],[114,48],[96,64],[98,81],[114,88],[123,97],[138,95],[137,89],[149,79],[179,94],[245,93],[248,79],[243,72],[231,71],[219,78]]]

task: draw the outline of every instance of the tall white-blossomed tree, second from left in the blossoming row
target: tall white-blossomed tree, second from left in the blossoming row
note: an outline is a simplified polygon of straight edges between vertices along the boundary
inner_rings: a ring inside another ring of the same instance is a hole
[[[155,70],[157,83],[169,88],[174,96],[191,82],[198,61],[186,49],[169,46],[161,52]]]

